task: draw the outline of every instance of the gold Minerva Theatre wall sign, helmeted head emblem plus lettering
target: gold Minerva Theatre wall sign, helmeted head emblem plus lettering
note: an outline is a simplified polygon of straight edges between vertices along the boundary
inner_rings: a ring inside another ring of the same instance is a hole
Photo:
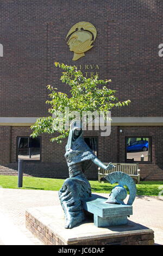
[[[90,22],[82,21],[72,26],[66,35],[66,44],[73,52],[73,61],[85,56],[85,52],[93,47],[97,36],[97,30]],[[77,69],[83,72],[85,77],[99,76],[98,64],[74,64]]]

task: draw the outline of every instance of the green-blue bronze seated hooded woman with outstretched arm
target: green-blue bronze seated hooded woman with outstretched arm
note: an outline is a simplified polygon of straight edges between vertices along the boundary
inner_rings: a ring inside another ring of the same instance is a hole
[[[87,146],[80,121],[73,121],[70,126],[65,158],[70,178],[62,185],[59,198],[65,212],[65,228],[72,228],[85,219],[82,202],[91,197],[91,186],[84,174],[85,170],[92,162],[107,170],[114,168],[114,165],[110,162],[105,166]]]

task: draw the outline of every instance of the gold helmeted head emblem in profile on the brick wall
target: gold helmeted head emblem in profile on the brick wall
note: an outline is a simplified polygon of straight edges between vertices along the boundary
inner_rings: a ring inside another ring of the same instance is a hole
[[[72,60],[85,56],[84,53],[93,47],[96,35],[96,28],[90,22],[82,21],[72,26],[66,36],[67,45],[74,52]]]

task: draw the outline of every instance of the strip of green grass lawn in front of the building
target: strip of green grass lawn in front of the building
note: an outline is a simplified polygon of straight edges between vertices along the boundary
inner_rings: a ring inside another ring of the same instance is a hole
[[[17,176],[0,175],[0,187],[3,188],[18,188]],[[64,179],[49,179],[23,176],[23,187],[19,189],[24,190],[60,190]],[[112,187],[116,184],[99,183],[98,181],[90,181],[92,192],[96,193],[110,193]],[[162,186],[162,188],[159,188]],[[141,181],[136,184],[138,196],[158,196],[161,189],[163,189],[163,181]]]

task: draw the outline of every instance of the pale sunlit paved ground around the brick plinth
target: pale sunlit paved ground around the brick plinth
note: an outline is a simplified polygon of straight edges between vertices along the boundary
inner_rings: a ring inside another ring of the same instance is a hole
[[[106,196],[106,194],[101,194]],[[60,204],[57,191],[0,188],[0,245],[42,245],[25,226],[28,208]],[[163,245],[163,199],[136,197],[130,220],[154,230],[155,243]]]

